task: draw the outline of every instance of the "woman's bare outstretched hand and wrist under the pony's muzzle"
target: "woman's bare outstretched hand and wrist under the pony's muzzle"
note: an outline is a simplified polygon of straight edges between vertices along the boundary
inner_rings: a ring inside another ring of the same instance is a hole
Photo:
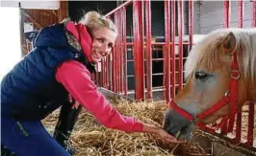
[[[185,141],[179,141],[172,135],[168,134],[162,127],[152,126],[143,123],[143,132],[153,133],[170,143],[185,143]]]

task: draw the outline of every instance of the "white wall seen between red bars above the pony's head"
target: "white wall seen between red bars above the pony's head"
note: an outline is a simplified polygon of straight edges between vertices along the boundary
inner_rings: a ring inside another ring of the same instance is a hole
[[[238,27],[239,6],[237,1],[231,2],[230,27]],[[194,2],[193,22],[194,33],[210,33],[216,29],[223,28],[223,2],[222,1],[200,1]],[[251,27],[252,2],[243,2],[243,28]]]

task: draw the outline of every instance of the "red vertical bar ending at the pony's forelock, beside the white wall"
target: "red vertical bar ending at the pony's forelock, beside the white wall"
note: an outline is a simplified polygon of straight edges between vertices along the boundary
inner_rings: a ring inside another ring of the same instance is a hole
[[[189,1],[189,33],[190,33],[190,50],[192,49],[193,45],[193,0]]]

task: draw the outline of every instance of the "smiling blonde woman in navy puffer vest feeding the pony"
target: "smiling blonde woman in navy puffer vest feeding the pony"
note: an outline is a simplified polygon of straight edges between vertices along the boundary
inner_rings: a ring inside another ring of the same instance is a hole
[[[42,29],[36,48],[2,80],[1,144],[20,156],[69,155],[40,123],[61,105],[70,110],[69,94],[108,128],[154,133],[179,143],[161,127],[121,116],[97,91],[90,79],[93,64],[111,53],[116,35],[114,23],[95,11],[78,24],[69,21]],[[66,121],[74,121],[75,114]]]

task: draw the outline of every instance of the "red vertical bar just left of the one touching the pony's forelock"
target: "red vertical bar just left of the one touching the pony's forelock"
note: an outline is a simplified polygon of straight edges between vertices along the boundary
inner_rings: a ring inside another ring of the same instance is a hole
[[[179,91],[183,88],[183,0],[178,1],[179,8]],[[175,62],[175,60],[174,60]]]

